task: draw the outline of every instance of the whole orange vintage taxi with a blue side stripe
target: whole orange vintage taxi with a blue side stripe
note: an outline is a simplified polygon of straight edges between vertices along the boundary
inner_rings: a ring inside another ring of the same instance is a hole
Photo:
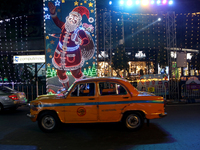
[[[44,132],[52,132],[60,123],[122,122],[129,130],[138,130],[144,119],[167,115],[163,97],[139,92],[121,78],[77,80],[64,95],[42,95],[30,102],[33,122]]]

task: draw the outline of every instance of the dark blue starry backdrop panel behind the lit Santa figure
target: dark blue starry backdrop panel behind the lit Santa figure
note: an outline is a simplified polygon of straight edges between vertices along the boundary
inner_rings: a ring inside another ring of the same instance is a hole
[[[48,72],[50,70],[53,70],[53,67],[55,63],[52,63],[52,58],[54,57],[54,52],[56,50],[57,45],[59,44],[59,37],[61,34],[60,28],[56,26],[56,24],[53,22],[52,16],[50,14],[50,10],[48,8],[48,3],[52,2],[54,6],[56,6],[56,16],[59,18],[60,21],[65,22],[66,17],[69,15],[69,13],[76,7],[78,6],[84,6],[89,10],[90,17],[89,19],[86,20],[86,16],[82,16],[82,27],[84,26],[84,23],[87,23],[88,25],[92,25],[94,27],[94,32],[90,33],[93,41],[94,41],[94,46],[95,46],[95,53],[93,57],[89,60],[84,60],[84,65],[81,68],[82,73],[84,71],[88,71],[93,69],[94,66],[97,66],[97,35],[96,35],[96,0],[71,0],[71,1],[66,1],[66,0],[43,0],[43,19],[44,19],[44,36],[45,36],[45,49],[46,49],[46,72],[48,68]],[[62,44],[60,44],[61,46]],[[59,46],[59,45],[58,45]],[[71,49],[70,49],[71,48]],[[70,52],[73,53],[73,51],[76,50],[76,48],[68,47],[67,46],[67,51],[71,50]],[[89,55],[89,53],[88,53]],[[74,55],[73,55],[74,56]],[[90,69],[89,69],[90,68]],[[56,68],[55,68],[56,69]],[[75,68],[73,68],[75,69]],[[71,73],[67,71],[67,75],[69,77],[69,84],[71,84],[72,79],[76,80]],[[49,73],[50,74],[50,73]],[[93,74],[94,75],[94,74]],[[52,85],[49,86],[48,82],[51,79],[51,77],[46,76],[46,89],[47,92],[48,90],[53,86],[55,88],[55,91],[57,91],[59,88],[61,88],[63,85],[61,84],[60,80],[59,82],[51,83]],[[63,80],[64,81],[64,80]],[[67,81],[67,80],[66,80]]]

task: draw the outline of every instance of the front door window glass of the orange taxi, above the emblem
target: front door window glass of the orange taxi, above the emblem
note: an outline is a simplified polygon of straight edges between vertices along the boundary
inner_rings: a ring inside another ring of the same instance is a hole
[[[78,84],[72,91],[71,96],[94,96],[95,83],[82,83]]]

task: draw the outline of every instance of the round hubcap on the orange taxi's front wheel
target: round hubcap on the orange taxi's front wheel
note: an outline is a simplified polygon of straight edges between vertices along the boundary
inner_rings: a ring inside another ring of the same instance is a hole
[[[42,119],[42,126],[45,129],[51,130],[55,127],[55,120],[52,116],[44,116]]]

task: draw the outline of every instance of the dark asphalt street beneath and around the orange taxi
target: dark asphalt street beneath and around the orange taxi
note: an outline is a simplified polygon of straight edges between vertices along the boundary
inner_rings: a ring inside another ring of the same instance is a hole
[[[136,132],[119,123],[64,124],[43,133],[28,107],[0,114],[0,150],[200,150],[200,103],[166,106],[167,117]]]

